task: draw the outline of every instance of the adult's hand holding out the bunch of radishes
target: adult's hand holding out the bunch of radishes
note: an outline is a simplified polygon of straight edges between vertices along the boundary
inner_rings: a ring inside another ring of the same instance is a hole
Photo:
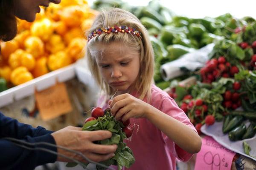
[[[59,146],[67,147],[71,150],[76,150],[84,154],[92,161],[105,161],[114,156],[117,145],[102,145],[94,144],[93,141],[99,141],[111,138],[112,133],[106,130],[97,131],[82,131],[80,127],[68,126],[51,134],[55,142]],[[86,162],[84,158],[75,153],[57,149],[58,153],[64,154],[79,161]],[[70,160],[58,156],[57,161],[69,162]]]

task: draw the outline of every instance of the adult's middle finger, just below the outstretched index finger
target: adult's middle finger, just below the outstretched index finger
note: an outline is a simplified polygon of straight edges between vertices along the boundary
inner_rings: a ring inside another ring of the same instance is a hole
[[[116,144],[112,144],[112,145],[93,144],[90,147],[89,151],[97,154],[109,154],[109,153],[114,153],[116,149],[117,149]]]

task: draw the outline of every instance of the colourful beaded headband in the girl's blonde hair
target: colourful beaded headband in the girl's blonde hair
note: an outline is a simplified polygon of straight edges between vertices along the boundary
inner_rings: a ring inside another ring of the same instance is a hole
[[[110,34],[111,32],[113,33],[128,33],[131,35],[136,35],[137,37],[140,37],[141,40],[143,40],[142,34],[137,31],[136,29],[132,29],[127,26],[108,26],[107,28],[101,28],[101,29],[96,29],[95,31],[91,32],[88,36],[88,42],[93,38],[96,37],[97,35],[101,35],[102,33],[107,33]]]

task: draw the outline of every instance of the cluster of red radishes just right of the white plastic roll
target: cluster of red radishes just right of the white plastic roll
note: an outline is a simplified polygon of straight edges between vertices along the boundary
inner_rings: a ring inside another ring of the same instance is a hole
[[[200,69],[200,75],[203,83],[212,83],[220,77],[234,77],[239,72],[237,66],[231,66],[224,56],[212,58],[207,61],[206,66]]]

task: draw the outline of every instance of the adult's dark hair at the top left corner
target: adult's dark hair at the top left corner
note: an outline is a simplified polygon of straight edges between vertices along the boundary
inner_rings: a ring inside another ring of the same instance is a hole
[[[17,34],[14,0],[0,0],[0,40],[12,40]]]

